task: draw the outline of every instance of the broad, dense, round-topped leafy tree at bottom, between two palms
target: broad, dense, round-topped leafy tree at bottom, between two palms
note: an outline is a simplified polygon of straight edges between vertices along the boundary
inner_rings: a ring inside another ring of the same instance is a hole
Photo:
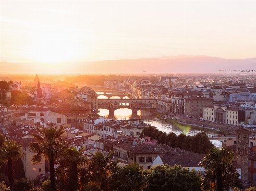
[[[200,177],[189,168],[175,165],[158,165],[146,169],[143,174],[147,177],[148,187],[145,191],[201,191]]]

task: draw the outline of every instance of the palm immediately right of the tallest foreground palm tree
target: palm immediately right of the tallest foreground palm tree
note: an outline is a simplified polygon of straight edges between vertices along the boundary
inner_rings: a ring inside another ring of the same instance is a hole
[[[84,154],[84,147],[77,150],[74,146],[67,148],[61,155],[59,166],[56,169],[57,184],[59,189],[64,186],[63,191],[78,190],[78,168],[85,165],[87,157]],[[63,184],[63,182],[65,184]]]

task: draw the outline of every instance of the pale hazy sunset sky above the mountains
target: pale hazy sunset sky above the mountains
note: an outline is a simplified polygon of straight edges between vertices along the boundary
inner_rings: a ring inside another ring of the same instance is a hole
[[[255,0],[0,0],[0,60],[256,57],[255,8]]]

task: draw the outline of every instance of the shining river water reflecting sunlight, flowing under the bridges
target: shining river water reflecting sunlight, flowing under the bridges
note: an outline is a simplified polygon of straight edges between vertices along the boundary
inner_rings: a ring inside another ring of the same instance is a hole
[[[103,93],[104,92],[97,92],[97,94],[99,94],[98,99],[108,99],[108,97],[106,97],[104,95],[100,95],[100,94],[103,94]],[[111,93],[106,93],[106,94],[111,94]],[[125,97],[125,98],[129,99],[128,97]],[[120,99],[120,98],[118,96],[113,96],[110,99]],[[99,108],[99,113],[98,114],[108,118],[109,110]],[[181,133],[183,133],[185,135],[195,135],[199,132],[198,130],[190,129],[189,125],[187,127],[177,127],[175,125],[165,123],[164,121],[159,120],[158,118],[156,118],[155,115],[152,112],[147,111],[147,110],[139,110],[137,115],[133,116],[132,115],[132,110],[127,109],[127,108],[121,108],[121,109],[118,109],[118,110],[114,111],[114,116],[115,116],[116,119],[124,119],[124,120],[134,119],[134,118],[144,119],[145,124],[151,124],[152,126],[157,127],[157,129],[159,131],[166,132],[167,134],[169,132],[173,132],[176,135],[180,135]],[[218,140],[210,140],[210,141],[215,146],[218,146],[218,147],[221,146],[221,142],[218,141]]]

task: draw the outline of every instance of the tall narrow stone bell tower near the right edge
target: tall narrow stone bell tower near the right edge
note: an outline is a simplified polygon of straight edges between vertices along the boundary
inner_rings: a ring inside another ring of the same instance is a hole
[[[236,132],[237,163],[241,165],[241,180],[248,180],[248,156],[250,131],[240,128]]]

